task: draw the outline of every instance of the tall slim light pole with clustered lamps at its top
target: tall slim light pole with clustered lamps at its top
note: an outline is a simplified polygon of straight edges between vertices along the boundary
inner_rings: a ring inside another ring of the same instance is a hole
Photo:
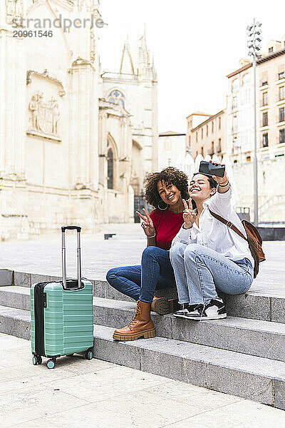
[[[254,73],[254,225],[258,226],[258,183],[257,183],[257,58],[261,50],[259,42],[261,37],[261,23],[255,18],[252,25],[247,26],[247,47],[249,56],[252,56],[252,68]]]

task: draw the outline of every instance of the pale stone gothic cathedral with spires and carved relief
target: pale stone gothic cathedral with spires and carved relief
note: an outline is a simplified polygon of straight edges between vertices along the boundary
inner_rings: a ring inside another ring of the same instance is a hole
[[[98,3],[1,1],[1,240],[133,221],[134,195],[157,169],[157,75],[145,34],[125,42],[117,73],[100,68],[95,25],[38,37],[35,24],[23,35],[27,19],[100,19]]]

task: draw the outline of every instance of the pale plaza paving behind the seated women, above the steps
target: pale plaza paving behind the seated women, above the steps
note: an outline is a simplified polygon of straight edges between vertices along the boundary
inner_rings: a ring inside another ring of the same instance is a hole
[[[116,233],[114,238],[103,239],[103,233],[113,232]],[[75,235],[68,235],[66,242],[68,276],[74,276]],[[99,234],[83,234],[83,276],[104,280],[111,267],[138,265],[145,245],[145,235],[138,223],[104,225]],[[261,263],[259,275],[254,280],[250,293],[285,297],[285,241],[266,241],[263,246],[266,261]],[[0,268],[41,275],[61,275],[61,233],[38,240],[1,242]]]

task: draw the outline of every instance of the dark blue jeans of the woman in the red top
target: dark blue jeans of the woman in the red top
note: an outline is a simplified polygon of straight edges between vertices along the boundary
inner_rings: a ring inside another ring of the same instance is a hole
[[[155,289],[175,287],[170,252],[158,247],[145,248],[141,265],[114,267],[106,277],[115,290],[147,303],[152,302]]]

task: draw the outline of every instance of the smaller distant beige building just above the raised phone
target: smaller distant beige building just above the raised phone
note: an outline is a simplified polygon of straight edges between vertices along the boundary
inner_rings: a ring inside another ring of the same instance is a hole
[[[214,115],[197,112],[187,116],[186,141],[193,159],[201,155],[208,160],[215,155],[219,161],[222,161],[227,151],[226,121],[224,110]]]

